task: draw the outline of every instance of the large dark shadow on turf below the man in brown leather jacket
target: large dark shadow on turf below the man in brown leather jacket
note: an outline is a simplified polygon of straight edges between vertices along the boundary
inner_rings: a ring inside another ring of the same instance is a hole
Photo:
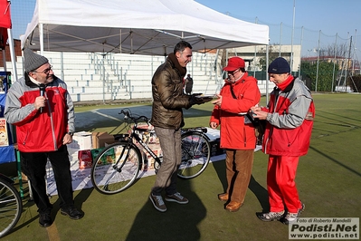
[[[161,213],[147,198],[128,232],[127,241],[201,239],[198,225],[206,216],[204,204],[192,189],[189,180],[178,178],[177,189],[189,199],[189,203],[181,205],[165,200],[167,210]]]

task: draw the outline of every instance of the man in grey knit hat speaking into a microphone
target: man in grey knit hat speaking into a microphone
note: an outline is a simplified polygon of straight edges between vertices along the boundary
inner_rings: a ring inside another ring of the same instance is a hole
[[[52,204],[44,179],[48,159],[62,215],[71,219],[84,216],[74,207],[66,147],[72,141],[74,108],[65,82],[54,75],[47,58],[25,49],[24,68],[24,77],[14,82],[6,94],[5,119],[16,127],[22,170],[31,182],[39,224],[50,227]]]

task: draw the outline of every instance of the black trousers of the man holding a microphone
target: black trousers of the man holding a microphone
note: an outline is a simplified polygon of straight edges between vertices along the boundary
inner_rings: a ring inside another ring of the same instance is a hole
[[[33,200],[39,208],[39,213],[48,212],[52,208],[45,184],[47,159],[52,163],[56,188],[61,200],[60,207],[67,208],[74,205],[71,186],[71,163],[66,146],[49,152],[20,152],[20,157],[22,171],[31,182]]]

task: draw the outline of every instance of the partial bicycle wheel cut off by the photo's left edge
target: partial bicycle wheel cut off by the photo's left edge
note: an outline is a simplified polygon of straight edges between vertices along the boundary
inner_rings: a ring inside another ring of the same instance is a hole
[[[0,178],[0,237],[5,236],[19,221],[23,202],[11,182]]]

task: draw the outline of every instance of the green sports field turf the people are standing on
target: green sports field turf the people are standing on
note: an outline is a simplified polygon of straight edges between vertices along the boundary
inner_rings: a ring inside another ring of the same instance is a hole
[[[361,95],[314,93],[313,97],[316,118],[311,146],[299,161],[296,179],[306,205],[301,217],[360,217]],[[147,113],[151,110],[150,103],[141,106]],[[77,107],[77,129],[116,134],[121,116],[114,108],[125,107],[139,104]],[[185,111],[186,127],[207,126],[212,108],[207,103]],[[105,109],[110,112],[100,116]],[[140,178],[111,196],[92,188],[74,192],[76,206],[85,212],[81,220],[63,217],[57,197],[52,197],[55,222],[48,228],[39,227],[36,207],[26,197],[19,223],[2,240],[288,240],[287,226],[261,222],[255,215],[269,208],[266,169],[267,156],[257,151],[245,203],[235,213],[225,211],[217,199],[225,187],[223,160],[211,163],[197,178],[179,179],[178,190],[190,202],[166,203],[166,213],[158,212],[148,200],[155,176]]]

